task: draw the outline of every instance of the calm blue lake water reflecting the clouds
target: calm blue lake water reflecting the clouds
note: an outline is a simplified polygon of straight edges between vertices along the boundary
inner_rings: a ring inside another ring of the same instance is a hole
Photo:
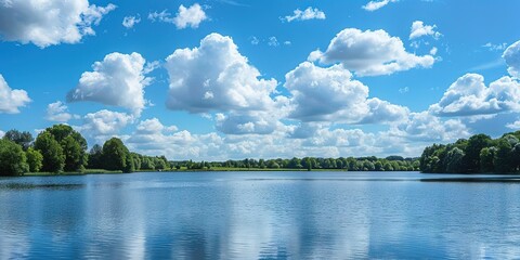
[[[453,178],[458,177],[2,178],[0,259],[519,257],[520,180]]]

